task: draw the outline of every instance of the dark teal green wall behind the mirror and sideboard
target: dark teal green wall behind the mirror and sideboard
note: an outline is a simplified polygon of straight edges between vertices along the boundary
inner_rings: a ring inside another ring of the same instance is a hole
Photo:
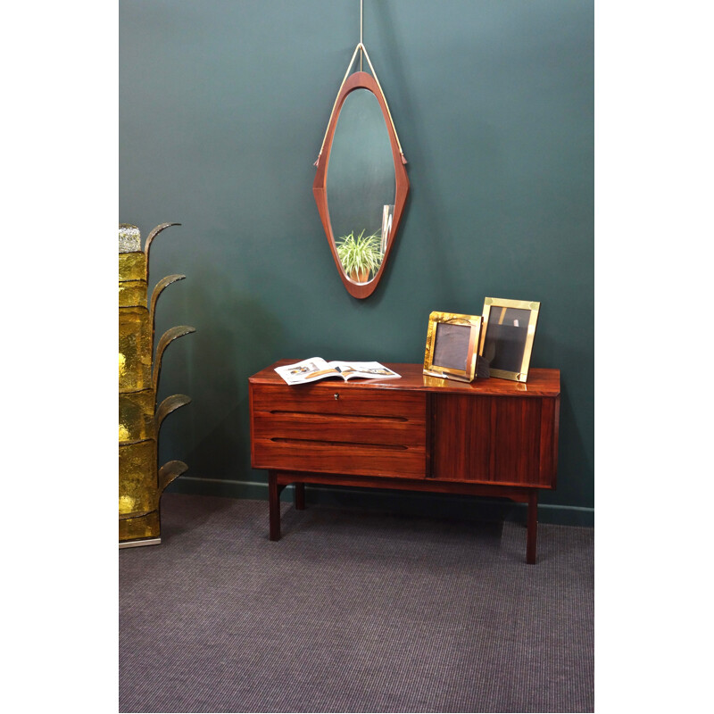
[[[365,0],[364,43],[409,164],[377,291],[347,294],[312,198],[359,40],[358,0],[120,0],[119,218],[183,273],[157,329],[187,324],[161,395],[171,486],[263,496],[247,379],[281,357],[423,359],[430,311],[541,302],[531,366],[561,370],[558,488],[541,519],[594,508],[592,0]]]

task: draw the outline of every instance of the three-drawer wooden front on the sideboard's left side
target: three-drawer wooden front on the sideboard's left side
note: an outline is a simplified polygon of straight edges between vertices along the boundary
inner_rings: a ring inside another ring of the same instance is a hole
[[[424,393],[251,386],[255,469],[424,477],[426,432]]]

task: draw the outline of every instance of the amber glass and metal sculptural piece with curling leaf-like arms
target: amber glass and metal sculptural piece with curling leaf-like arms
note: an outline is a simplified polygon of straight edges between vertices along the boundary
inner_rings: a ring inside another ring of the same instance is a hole
[[[159,503],[163,489],[187,470],[183,461],[158,468],[158,438],[162,421],[191,400],[186,394],[169,396],[157,406],[162,356],[180,336],[195,332],[179,326],[159,340],[154,358],[156,302],[171,283],[186,278],[170,275],[154,287],[147,303],[149,248],[169,226],[152,230],[141,248],[136,226],[119,226],[119,547],[161,543]]]

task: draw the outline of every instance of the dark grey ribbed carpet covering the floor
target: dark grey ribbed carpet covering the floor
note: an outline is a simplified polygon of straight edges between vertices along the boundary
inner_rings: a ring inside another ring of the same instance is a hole
[[[120,561],[121,712],[594,711],[594,531],[165,494]]]

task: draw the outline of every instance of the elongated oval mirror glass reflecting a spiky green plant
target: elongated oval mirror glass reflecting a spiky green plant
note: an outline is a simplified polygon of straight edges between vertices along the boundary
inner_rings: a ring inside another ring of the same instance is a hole
[[[329,154],[327,197],[332,239],[346,278],[375,278],[391,239],[396,179],[392,144],[377,96],[345,97]]]

